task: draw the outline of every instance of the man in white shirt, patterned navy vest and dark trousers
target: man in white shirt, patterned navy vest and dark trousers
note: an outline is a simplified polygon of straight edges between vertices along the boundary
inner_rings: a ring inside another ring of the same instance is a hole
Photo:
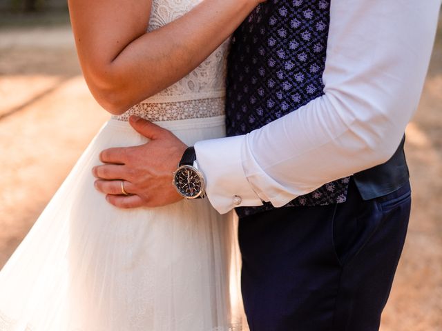
[[[171,173],[196,159],[206,179],[198,193],[240,217],[251,330],[378,330],[410,214],[403,132],[419,101],[439,6],[262,3],[233,36],[230,137],[186,149],[132,117],[151,141],[102,152],[97,188],[121,208],[173,203],[182,197]],[[119,193],[121,180],[133,195]]]

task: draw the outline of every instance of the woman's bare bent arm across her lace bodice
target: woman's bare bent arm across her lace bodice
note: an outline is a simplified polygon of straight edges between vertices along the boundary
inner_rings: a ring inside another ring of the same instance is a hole
[[[209,57],[262,0],[204,0],[146,32],[152,0],[68,0],[81,68],[112,114],[182,79]]]

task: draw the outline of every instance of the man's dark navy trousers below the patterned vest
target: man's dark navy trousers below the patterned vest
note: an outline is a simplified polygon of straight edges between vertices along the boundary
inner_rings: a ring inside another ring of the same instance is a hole
[[[239,223],[251,331],[374,331],[410,217],[410,184],[364,201],[276,208]]]

